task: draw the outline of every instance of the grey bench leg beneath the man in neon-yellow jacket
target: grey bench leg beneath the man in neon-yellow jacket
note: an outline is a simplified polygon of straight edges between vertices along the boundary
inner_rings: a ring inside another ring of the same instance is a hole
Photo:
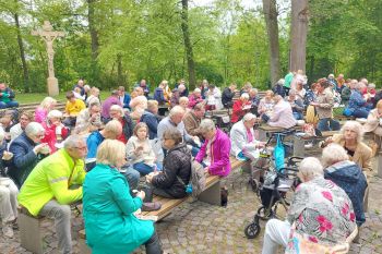
[[[21,246],[35,254],[43,254],[43,238],[39,231],[39,219],[20,214],[17,220]]]

